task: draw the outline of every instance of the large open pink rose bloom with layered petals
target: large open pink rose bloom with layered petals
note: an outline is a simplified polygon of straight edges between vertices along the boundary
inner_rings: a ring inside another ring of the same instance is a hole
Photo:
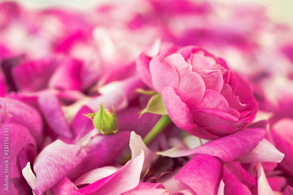
[[[258,110],[251,85],[221,58],[202,48],[187,46],[166,55],[142,53],[137,59],[141,79],[162,95],[172,121],[204,139],[237,132]]]

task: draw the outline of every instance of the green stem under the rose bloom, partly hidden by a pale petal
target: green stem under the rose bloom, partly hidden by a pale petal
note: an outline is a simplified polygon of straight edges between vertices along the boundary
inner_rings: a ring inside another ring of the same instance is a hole
[[[144,137],[144,144],[148,145],[163,129],[165,129],[172,120],[168,115],[162,115],[156,125],[151,129],[151,131]],[[124,164],[131,159],[131,154],[129,154],[120,164]]]

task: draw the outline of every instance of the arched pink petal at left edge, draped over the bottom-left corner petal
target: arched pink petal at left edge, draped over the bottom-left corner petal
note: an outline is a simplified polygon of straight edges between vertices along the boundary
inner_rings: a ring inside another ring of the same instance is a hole
[[[29,106],[22,101],[0,97],[1,122],[4,122],[9,115],[12,115],[15,118],[15,123],[28,127],[33,137],[35,137],[37,146],[41,147],[43,131],[41,129],[42,118],[40,113],[34,107]]]

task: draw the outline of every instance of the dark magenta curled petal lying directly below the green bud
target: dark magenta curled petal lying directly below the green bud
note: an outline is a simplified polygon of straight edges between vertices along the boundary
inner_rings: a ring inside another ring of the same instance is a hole
[[[118,132],[111,135],[96,135],[84,147],[87,155],[67,177],[75,181],[82,174],[94,169],[109,165],[128,146],[130,132]]]

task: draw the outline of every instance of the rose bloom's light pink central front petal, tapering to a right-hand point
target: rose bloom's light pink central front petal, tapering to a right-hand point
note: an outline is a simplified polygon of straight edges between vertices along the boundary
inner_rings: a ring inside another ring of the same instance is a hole
[[[205,90],[205,95],[203,96],[202,101],[199,103],[196,109],[218,110],[231,114],[236,118],[240,117],[239,112],[230,108],[227,100],[222,95],[211,89]]]

